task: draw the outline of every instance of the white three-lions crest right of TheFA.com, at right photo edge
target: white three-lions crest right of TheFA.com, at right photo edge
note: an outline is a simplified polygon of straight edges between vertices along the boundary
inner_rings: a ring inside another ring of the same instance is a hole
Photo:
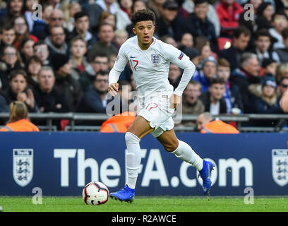
[[[288,149],[272,150],[272,177],[276,184],[288,184]]]

